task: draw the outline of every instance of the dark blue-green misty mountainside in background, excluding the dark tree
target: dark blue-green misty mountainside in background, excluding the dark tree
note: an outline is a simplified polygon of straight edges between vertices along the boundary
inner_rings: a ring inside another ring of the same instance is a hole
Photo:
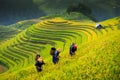
[[[79,3],[88,6],[97,21],[120,16],[119,0],[0,0],[0,24],[9,25],[49,14],[64,15],[69,6]]]

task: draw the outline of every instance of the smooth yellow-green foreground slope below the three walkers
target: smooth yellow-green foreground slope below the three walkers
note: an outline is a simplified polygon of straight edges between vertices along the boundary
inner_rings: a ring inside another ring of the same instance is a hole
[[[94,40],[91,43],[81,45],[76,56],[72,58],[69,57],[68,52],[64,52],[59,64],[51,65],[48,63],[40,74],[36,73],[32,67],[19,73],[19,75],[24,74],[24,76],[21,75],[22,78],[18,78],[21,80],[119,80],[119,34],[119,31],[112,32],[108,34],[111,35],[110,37],[104,36],[106,38],[99,38],[100,41]]]

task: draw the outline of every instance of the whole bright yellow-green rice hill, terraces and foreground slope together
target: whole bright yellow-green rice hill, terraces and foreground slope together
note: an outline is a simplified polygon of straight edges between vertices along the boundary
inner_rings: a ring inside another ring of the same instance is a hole
[[[89,19],[43,19],[1,43],[0,63],[9,69],[0,74],[0,80],[120,79],[120,17],[101,22],[105,29],[100,30]],[[72,42],[78,51],[70,57]],[[62,48],[57,65],[51,61],[52,46]],[[41,73],[34,67],[36,54],[46,62]]]

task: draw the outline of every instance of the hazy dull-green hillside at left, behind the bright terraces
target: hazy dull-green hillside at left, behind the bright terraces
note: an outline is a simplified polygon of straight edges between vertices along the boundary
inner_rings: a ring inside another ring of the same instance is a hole
[[[6,41],[7,39],[15,37],[15,35],[22,32],[24,29],[28,28],[29,26],[38,23],[39,21],[40,21],[39,19],[33,19],[33,20],[19,21],[15,24],[8,26],[0,25],[0,43],[2,41]]]

